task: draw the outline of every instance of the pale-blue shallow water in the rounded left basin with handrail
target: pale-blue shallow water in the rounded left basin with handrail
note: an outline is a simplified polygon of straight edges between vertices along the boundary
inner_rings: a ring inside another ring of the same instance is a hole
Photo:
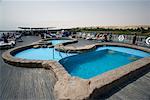
[[[53,53],[54,52],[54,53]],[[31,48],[19,52],[15,55],[15,57],[23,58],[23,59],[31,59],[31,60],[60,60],[67,56],[75,55],[75,53],[63,53],[56,51],[54,48]]]

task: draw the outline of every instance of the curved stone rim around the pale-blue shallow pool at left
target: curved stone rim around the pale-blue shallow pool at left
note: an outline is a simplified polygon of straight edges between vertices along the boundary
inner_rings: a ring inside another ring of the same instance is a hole
[[[54,45],[52,45],[51,43],[47,43],[47,42],[44,42],[44,41],[47,41],[47,40],[53,40],[53,39],[68,39],[70,41],[67,41],[66,44],[70,44],[70,43],[76,43],[77,40],[76,39],[72,39],[72,38],[48,38],[48,39],[42,39],[42,40],[39,40],[39,41],[36,41],[36,42],[33,42],[29,45],[23,45],[23,46],[19,46],[19,47],[15,47],[15,48],[12,48],[10,50],[7,50],[6,52],[4,52],[2,54],[2,58],[4,60],[4,62],[10,64],[10,65],[13,65],[13,66],[16,66],[16,67],[26,67],[26,68],[43,68],[42,66],[42,62],[44,60],[28,60],[28,59],[23,59],[23,58],[16,58],[14,57],[13,55],[15,55],[16,53],[20,52],[20,51],[23,51],[23,50],[26,50],[26,49],[29,49],[29,48],[45,48],[45,45],[47,45],[46,47],[48,48],[53,48]],[[61,45],[58,44],[58,45]],[[47,61],[47,60],[45,60]],[[49,61],[52,61],[53,60],[49,60]]]

